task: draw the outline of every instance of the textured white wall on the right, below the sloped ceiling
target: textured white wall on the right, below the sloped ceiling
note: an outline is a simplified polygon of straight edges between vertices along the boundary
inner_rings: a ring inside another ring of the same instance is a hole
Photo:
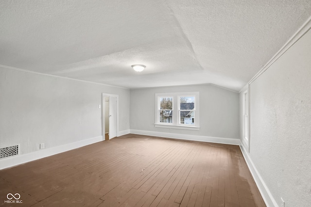
[[[311,31],[250,84],[250,153],[274,205],[311,205]],[[242,104],[242,102],[241,102]]]

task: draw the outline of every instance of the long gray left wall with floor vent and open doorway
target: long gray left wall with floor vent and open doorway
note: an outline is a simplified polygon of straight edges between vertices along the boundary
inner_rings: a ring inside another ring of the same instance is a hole
[[[102,135],[102,93],[119,95],[119,130],[128,130],[130,91],[0,67],[0,147],[20,154]]]

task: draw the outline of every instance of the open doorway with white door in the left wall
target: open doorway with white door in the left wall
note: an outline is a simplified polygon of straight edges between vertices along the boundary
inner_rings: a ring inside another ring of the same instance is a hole
[[[119,96],[115,94],[103,94],[103,138],[110,140],[118,136],[118,105]]]

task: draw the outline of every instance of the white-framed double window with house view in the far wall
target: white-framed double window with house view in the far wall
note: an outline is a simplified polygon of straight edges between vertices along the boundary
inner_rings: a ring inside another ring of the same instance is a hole
[[[199,92],[155,94],[155,127],[199,130]]]

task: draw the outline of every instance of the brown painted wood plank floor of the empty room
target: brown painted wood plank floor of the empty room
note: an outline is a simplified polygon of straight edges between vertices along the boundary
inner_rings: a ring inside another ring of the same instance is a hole
[[[128,134],[0,171],[0,206],[264,207],[239,146]],[[14,200],[14,199],[13,199]]]

